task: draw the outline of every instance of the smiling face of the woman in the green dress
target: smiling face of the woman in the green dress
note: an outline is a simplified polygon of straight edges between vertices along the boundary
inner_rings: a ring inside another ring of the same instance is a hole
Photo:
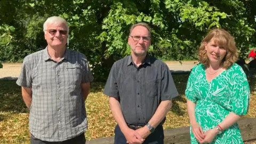
[[[218,63],[220,65],[223,58],[227,53],[227,47],[220,46],[216,43],[215,39],[212,38],[209,43],[204,43],[207,57],[210,63]]]

